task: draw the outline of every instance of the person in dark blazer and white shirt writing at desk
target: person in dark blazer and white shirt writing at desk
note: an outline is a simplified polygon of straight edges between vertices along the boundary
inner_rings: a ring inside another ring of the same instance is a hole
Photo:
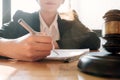
[[[61,19],[57,9],[64,0],[37,0],[39,12],[17,11],[13,21],[0,30],[0,56],[23,61],[36,61],[50,54],[53,48],[98,49],[100,40],[78,19]],[[25,20],[39,35],[31,35],[18,20]],[[76,16],[75,16],[76,18]],[[45,33],[45,35],[43,35]],[[52,44],[52,41],[53,44]]]

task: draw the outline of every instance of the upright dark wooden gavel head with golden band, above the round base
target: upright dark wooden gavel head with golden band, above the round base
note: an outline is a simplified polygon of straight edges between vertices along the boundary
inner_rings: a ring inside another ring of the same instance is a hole
[[[105,20],[104,36],[107,42],[103,47],[111,53],[120,52],[120,10],[109,10],[103,16]]]

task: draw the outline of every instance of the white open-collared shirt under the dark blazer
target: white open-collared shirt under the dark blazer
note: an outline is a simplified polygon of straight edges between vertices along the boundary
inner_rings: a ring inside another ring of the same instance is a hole
[[[56,15],[55,19],[53,20],[50,26],[47,26],[40,13],[39,13],[39,18],[40,18],[40,31],[48,36],[51,36],[54,41],[59,40],[60,33],[58,30],[58,23],[57,23],[58,14]]]

